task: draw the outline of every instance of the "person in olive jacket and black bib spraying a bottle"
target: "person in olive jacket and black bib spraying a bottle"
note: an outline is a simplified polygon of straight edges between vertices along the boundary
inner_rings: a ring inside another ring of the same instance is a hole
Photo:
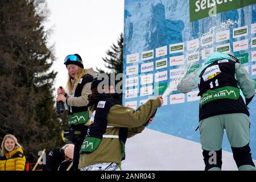
[[[126,139],[141,133],[152,122],[163,98],[148,100],[134,110],[119,103],[110,82],[102,86],[104,93],[98,93],[101,80],[96,79],[91,85],[92,94],[88,96],[88,107],[93,114],[81,147],[79,168],[81,171],[119,171],[118,166],[125,159]]]

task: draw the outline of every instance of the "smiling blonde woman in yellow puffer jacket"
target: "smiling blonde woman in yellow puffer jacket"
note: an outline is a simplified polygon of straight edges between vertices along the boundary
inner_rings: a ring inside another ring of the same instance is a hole
[[[0,171],[24,171],[26,158],[14,135],[5,135],[1,144]]]

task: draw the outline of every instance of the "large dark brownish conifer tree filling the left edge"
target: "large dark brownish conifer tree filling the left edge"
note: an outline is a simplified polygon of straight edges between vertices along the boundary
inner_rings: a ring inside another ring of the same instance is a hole
[[[27,162],[35,162],[43,148],[62,144],[45,5],[44,0],[0,1],[0,140],[14,134]]]

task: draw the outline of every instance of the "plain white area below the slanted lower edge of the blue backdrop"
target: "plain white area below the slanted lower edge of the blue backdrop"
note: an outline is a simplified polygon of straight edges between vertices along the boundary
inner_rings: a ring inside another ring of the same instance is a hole
[[[202,152],[200,143],[145,129],[127,139],[122,170],[201,171],[204,170]],[[237,170],[232,153],[222,151],[222,170]]]

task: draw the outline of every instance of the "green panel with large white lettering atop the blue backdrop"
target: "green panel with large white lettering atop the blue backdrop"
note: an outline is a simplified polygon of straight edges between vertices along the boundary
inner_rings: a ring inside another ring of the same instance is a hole
[[[193,22],[255,3],[255,0],[189,0],[189,19]]]

